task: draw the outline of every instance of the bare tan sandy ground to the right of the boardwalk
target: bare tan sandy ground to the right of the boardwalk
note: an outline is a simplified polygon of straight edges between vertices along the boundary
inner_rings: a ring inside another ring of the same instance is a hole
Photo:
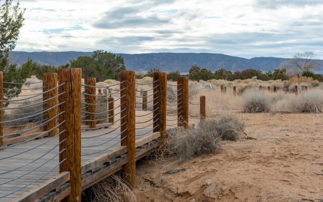
[[[138,201],[323,201],[323,116],[240,114],[255,139],[219,154],[137,165]],[[170,169],[185,168],[175,174]]]

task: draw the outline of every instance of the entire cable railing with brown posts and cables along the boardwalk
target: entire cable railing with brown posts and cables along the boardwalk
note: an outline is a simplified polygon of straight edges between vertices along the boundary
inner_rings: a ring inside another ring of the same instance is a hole
[[[121,81],[106,86],[96,86],[95,78],[81,84],[80,69],[62,68],[58,75],[45,73],[42,87],[19,83],[0,91],[0,163],[10,165],[0,170],[0,201],[35,186],[58,190],[62,184],[41,184],[62,179],[58,175],[65,175],[60,183],[70,187],[71,198],[81,197],[81,177],[100,169],[124,168],[126,176],[135,176],[136,159],[164,145],[167,128],[187,127],[188,117],[200,116],[188,113],[190,105],[205,104],[188,100],[187,78],[167,83],[164,72],[136,82],[134,71],[121,71]],[[5,91],[15,96],[4,96]],[[125,180],[134,186],[132,178]],[[23,182],[2,192],[17,181]]]

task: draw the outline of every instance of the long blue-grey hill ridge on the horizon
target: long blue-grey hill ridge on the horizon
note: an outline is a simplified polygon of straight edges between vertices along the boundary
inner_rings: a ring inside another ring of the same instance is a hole
[[[19,52],[10,53],[10,61],[21,66],[27,58],[39,64],[46,65],[65,65],[70,60],[75,60],[80,56],[91,56],[92,52]],[[124,57],[127,69],[137,71],[147,71],[152,68],[158,68],[162,71],[180,71],[188,72],[189,68],[196,64],[199,67],[207,68],[211,71],[224,68],[231,71],[240,71],[245,69],[258,69],[261,71],[273,71],[280,67],[280,64],[286,58],[259,57],[259,58],[239,58],[223,54],[207,53],[151,53],[151,54],[117,54]],[[323,70],[323,61],[318,60]]]

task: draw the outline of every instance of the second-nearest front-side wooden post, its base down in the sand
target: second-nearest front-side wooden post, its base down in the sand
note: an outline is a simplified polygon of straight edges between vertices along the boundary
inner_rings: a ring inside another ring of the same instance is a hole
[[[120,72],[121,146],[127,146],[128,162],[123,166],[123,177],[129,188],[136,186],[136,133],[135,133],[135,71]],[[125,103],[125,104],[123,104]],[[125,110],[125,111],[123,111]]]

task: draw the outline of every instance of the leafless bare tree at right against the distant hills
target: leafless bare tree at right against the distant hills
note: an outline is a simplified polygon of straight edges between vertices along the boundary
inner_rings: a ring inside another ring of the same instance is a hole
[[[281,67],[291,69],[296,76],[301,77],[304,72],[316,68],[317,63],[313,52],[305,52],[297,53],[290,61],[283,62]]]

